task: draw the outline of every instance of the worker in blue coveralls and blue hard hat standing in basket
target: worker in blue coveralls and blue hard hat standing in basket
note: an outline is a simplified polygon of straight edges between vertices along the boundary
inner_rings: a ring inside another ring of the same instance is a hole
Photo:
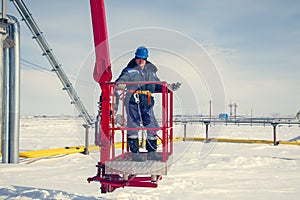
[[[127,113],[127,127],[138,128],[142,122],[146,128],[158,128],[157,120],[154,116],[154,92],[161,92],[161,84],[122,84],[121,82],[159,82],[157,77],[157,67],[147,60],[149,51],[146,47],[140,46],[135,52],[135,57],[123,69],[121,75],[116,80],[120,82],[117,87],[127,88],[125,107]],[[181,83],[169,85],[173,91],[179,89]],[[138,130],[127,131],[127,143],[133,153],[133,161],[144,161],[145,158],[139,153]],[[147,130],[146,150],[148,160],[159,160],[161,156],[156,154],[157,137],[156,131]]]

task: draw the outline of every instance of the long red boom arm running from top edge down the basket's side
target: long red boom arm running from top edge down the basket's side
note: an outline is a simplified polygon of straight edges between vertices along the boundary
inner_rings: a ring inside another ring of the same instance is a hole
[[[111,63],[109,58],[109,47],[106,28],[106,17],[104,0],[90,0],[94,45],[96,52],[96,64],[94,68],[94,79],[100,84],[101,94],[101,164],[109,160],[109,87],[108,82],[112,78]]]

